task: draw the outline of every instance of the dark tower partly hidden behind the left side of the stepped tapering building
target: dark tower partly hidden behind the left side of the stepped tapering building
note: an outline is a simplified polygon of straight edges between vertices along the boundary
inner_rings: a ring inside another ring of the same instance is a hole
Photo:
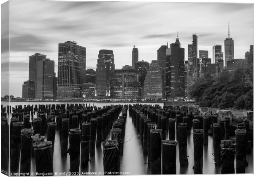
[[[147,75],[147,69],[149,68],[149,63],[147,61],[138,61],[135,63],[135,69],[139,71],[139,99],[143,99],[143,85]]]

